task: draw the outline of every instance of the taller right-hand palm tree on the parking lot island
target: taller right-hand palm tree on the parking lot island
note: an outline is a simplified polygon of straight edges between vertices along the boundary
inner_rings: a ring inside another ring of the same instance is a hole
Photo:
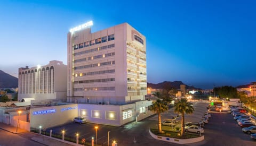
[[[181,114],[181,135],[185,134],[185,113],[192,114],[195,109],[193,104],[188,102],[188,99],[181,98],[180,101],[174,104],[174,113]]]

